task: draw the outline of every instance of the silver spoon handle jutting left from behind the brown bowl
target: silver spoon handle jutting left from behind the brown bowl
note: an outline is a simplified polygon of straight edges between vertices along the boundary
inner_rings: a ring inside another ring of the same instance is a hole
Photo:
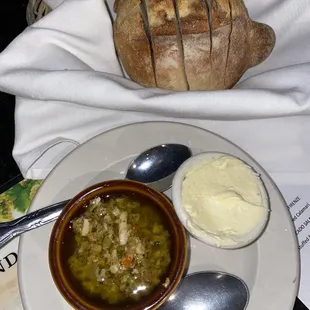
[[[69,201],[57,202],[48,207],[30,212],[16,220],[0,223],[0,249],[24,232],[55,221]]]

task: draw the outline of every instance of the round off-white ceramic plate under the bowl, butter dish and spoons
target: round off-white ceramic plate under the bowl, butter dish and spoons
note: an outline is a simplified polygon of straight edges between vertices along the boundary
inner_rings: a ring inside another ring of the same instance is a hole
[[[58,164],[42,184],[30,211],[71,198],[99,181],[123,178],[136,155],[163,143],[185,144],[195,154],[230,153],[261,174],[272,210],[265,233],[252,245],[238,250],[217,249],[191,239],[189,272],[221,270],[241,277],[250,289],[248,310],[291,310],[299,283],[299,252],[286,204],[266,172],[249,155],[206,130],[179,123],[147,122],[103,133]],[[26,310],[71,309],[50,275],[48,243],[52,225],[31,231],[20,240],[18,277]]]

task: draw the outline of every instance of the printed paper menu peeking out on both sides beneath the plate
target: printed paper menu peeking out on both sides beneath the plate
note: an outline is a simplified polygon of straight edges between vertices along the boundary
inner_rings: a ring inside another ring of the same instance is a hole
[[[0,194],[0,222],[25,214],[41,181],[23,180]],[[309,186],[279,185],[298,237],[301,256],[299,299],[310,308],[310,190]],[[18,282],[18,239],[0,249],[0,310],[23,310]]]

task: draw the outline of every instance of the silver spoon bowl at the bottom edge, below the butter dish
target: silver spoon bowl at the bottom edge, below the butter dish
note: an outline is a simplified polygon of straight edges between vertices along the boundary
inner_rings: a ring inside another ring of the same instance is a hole
[[[249,290],[240,278],[225,272],[187,275],[162,310],[244,310]]]

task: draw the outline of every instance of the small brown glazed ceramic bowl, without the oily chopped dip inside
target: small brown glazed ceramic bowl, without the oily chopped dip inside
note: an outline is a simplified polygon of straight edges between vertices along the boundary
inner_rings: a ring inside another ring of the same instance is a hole
[[[137,303],[127,306],[112,306],[99,298],[94,299],[89,297],[75,283],[68,266],[68,257],[73,253],[73,246],[72,242],[70,245],[67,240],[69,240],[68,234],[70,234],[70,221],[83,212],[85,204],[97,196],[121,193],[135,193],[137,197],[152,201],[152,204],[159,209],[164,217],[167,229],[171,235],[171,263],[165,275],[165,278],[169,277],[170,284],[167,288],[159,285],[152,293],[143,297]],[[65,206],[53,227],[50,237],[49,265],[52,277],[66,301],[73,308],[79,310],[157,309],[175,291],[184,273],[186,263],[186,234],[183,225],[174,211],[172,203],[160,192],[134,181],[106,181],[83,190]]]

